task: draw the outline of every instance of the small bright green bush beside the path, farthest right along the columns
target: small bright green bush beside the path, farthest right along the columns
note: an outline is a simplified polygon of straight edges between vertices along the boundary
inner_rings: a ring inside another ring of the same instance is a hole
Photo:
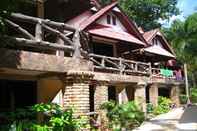
[[[170,111],[172,101],[169,98],[160,96],[158,98],[158,106],[153,110],[154,115],[160,115]]]

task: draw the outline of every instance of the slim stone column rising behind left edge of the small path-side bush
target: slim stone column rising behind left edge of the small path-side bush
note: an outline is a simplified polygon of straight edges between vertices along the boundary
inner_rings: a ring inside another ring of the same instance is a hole
[[[150,103],[152,103],[154,107],[158,105],[158,96],[159,96],[158,85],[157,84],[150,85],[149,100],[150,100]]]

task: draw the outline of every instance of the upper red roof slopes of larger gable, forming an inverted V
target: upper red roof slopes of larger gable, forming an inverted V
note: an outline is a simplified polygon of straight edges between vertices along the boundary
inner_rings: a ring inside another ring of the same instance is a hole
[[[124,14],[124,12],[118,7],[118,2],[112,2],[111,4],[105,6],[104,8],[100,9],[99,11],[96,10],[89,10],[87,12],[82,13],[82,16],[77,16],[78,19],[70,20],[67,22],[67,24],[77,25],[75,27],[80,28],[80,30],[87,30],[92,25],[96,24],[100,19],[102,19],[103,16],[107,15],[108,13],[113,13],[115,16],[117,16],[118,20],[120,21],[122,26],[122,29],[140,41],[147,44],[146,40],[142,36],[142,34],[137,29],[136,25],[133,23],[133,21],[130,21],[129,18]],[[83,16],[85,14],[85,16]],[[82,21],[82,17],[86,17]],[[74,24],[77,23],[77,24]]]

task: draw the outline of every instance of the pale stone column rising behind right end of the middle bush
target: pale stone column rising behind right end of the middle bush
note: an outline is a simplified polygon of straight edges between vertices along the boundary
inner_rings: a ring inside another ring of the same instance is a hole
[[[139,82],[135,88],[135,101],[141,106],[146,113],[146,88],[144,82]]]

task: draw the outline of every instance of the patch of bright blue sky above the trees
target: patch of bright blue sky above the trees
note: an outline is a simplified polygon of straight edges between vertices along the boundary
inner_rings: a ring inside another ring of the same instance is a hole
[[[178,16],[172,16],[169,23],[166,23],[166,21],[162,22],[164,26],[168,27],[175,19],[184,20],[187,16],[194,13],[195,7],[197,7],[197,0],[178,0],[177,7],[180,9],[181,14]]]

